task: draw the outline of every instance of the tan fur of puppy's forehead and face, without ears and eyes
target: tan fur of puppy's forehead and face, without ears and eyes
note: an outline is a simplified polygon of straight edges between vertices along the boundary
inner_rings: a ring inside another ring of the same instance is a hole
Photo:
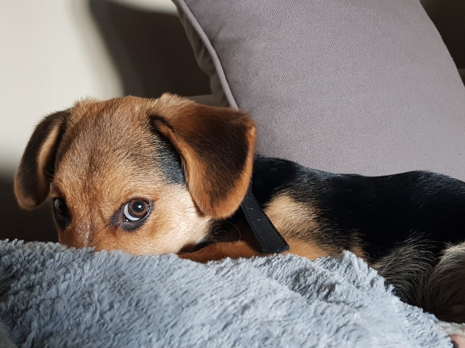
[[[51,197],[66,198],[73,216],[59,232],[61,243],[134,254],[173,252],[206,234],[211,219],[197,212],[185,187],[166,185],[153,161],[153,135],[142,122],[153,103],[144,108],[141,100],[84,100],[73,108],[59,149],[67,151],[51,191]],[[146,223],[133,232],[110,226],[120,205],[137,197],[153,201]]]

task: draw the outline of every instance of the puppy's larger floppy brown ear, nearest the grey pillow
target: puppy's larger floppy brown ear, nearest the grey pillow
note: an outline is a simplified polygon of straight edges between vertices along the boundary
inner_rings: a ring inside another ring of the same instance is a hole
[[[252,176],[255,122],[241,111],[191,102],[164,111],[151,122],[181,156],[193,201],[213,219],[233,215]]]

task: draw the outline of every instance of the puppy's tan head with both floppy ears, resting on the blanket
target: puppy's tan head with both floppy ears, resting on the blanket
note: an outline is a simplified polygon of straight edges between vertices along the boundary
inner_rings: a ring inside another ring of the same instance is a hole
[[[49,196],[60,243],[188,250],[231,216],[252,175],[246,114],[164,94],[86,99],[36,127],[14,179],[19,205]]]

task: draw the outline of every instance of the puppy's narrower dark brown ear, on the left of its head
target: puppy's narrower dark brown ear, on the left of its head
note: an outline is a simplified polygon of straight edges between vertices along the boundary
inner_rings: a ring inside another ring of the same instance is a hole
[[[50,189],[55,157],[65,130],[67,111],[46,116],[34,129],[14,176],[14,194],[23,209],[42,203]]]

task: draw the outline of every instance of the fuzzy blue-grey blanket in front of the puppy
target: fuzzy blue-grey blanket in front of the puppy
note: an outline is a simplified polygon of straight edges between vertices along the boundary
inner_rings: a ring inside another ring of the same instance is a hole
[[[355,255],[196,264],[0,241],[0,347],[452,347]]]

